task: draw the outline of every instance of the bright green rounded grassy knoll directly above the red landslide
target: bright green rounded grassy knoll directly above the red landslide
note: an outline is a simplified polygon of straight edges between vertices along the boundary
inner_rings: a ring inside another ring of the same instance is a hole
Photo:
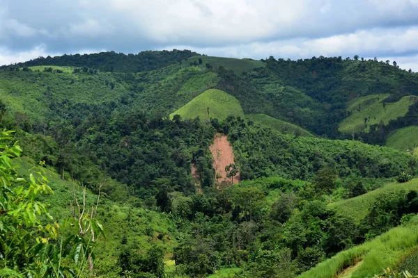
[[[224,120],[229,115],[244,117],[244,112],[235,97],[222,90],[210,89],[172,113],[170,118],[174,115],[180,115],[182,119],[200,117],[201,120],[210,118]]]

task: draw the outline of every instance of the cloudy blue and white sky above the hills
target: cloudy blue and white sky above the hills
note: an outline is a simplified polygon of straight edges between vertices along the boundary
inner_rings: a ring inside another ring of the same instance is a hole
[[[418,0],[0,0],[0,65],[160,49],[254,59],[357,54],[418,72]]]

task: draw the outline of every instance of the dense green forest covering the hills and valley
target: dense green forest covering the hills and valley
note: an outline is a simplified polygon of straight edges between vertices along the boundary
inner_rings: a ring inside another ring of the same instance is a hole
[[[361,119],[361,131],[340,127],[369,106],[418,95],[417,74],[358,57],[187,60],[196,55],[109,52],[1,67],[0,277],[303,277],[350,252],[331,278],[367,253],[351,250],[412,229],[417,158],[385,142],[417,124],[417,104],[394,120]],[[199,104],[208,119],[176,115],[212,88],[245,115],[212,117],[233,111],[219,99]],[[311,133],[246,117],[256,113]],[[217,183],[217,133],[233,147],[238,184]],[[385,265],[364,259],[359,273],[418,275],[408,263],[415,248],[388,249]]]

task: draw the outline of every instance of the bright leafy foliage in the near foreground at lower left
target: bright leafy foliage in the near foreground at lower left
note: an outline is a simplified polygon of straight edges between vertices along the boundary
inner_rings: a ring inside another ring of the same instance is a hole
[[[42,168],[17,177],[11,158],[22,149],[13,142],[13,131],[0,134],[0,277],[79,277],[86,262],[93,265],[95,240],[102,225],[88,211],[52,222],[47,205],[37,196],[52,193]]]

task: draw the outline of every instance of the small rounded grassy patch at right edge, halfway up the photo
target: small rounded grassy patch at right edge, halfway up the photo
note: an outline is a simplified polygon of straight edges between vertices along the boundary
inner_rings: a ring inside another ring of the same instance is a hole
[[[386,146],[406,152],[414,152],[415,147],[418,146],[418,126],[408,126],[403,129],[398,129],[386,140]]]

